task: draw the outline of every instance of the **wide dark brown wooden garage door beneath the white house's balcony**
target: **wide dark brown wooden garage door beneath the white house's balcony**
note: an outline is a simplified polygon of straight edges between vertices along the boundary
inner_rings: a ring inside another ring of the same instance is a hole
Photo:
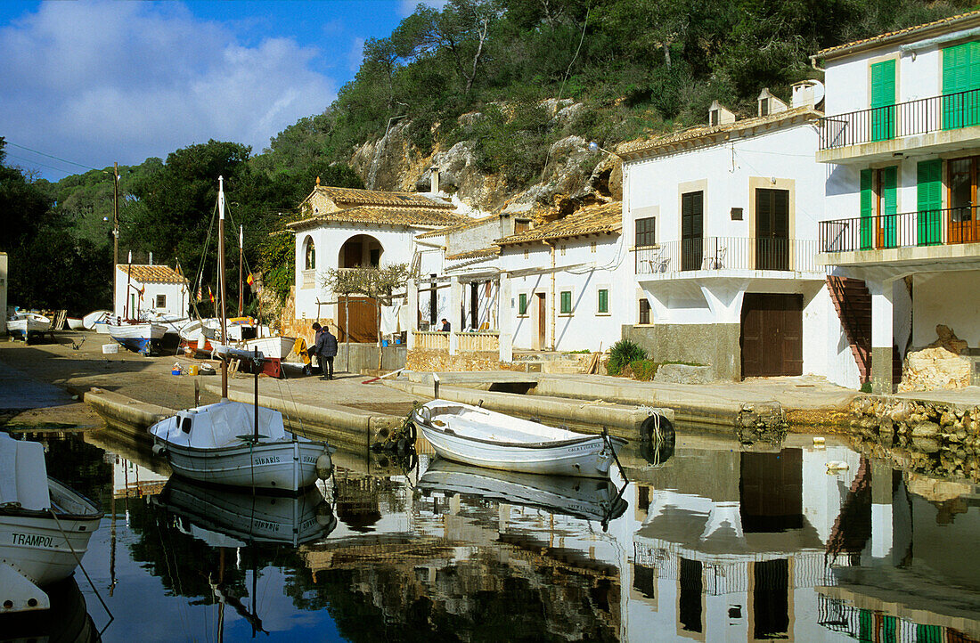
[[[742,376],[803,374],[803,295],[747,292],[742,300]]]

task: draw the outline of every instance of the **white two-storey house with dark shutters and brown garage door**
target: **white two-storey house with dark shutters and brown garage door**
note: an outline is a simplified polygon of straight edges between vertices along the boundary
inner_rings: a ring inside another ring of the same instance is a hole
[[[715,377],[858,369],[816,263],[825,169],[814,161],[819,83],[759,116],[715,103],[709,125],[619,148],[623,228],[639,297],[624,335],[657,362],[711,365]]]

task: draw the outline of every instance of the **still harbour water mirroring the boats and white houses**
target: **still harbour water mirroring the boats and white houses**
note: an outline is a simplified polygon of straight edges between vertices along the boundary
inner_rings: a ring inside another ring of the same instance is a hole
[[[679,430],[609,484],[337,453],[299,498],[168,481],[110,429],[27,438],[106,510],[60,603],[80,640],[980,638],[977,487],[829,438]]]

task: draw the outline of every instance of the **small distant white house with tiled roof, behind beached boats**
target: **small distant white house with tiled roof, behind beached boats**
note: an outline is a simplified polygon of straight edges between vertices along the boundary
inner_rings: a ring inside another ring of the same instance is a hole
[[[116,265],[115,316],[123,320],[147,317],[187,317],[190,289],[187,279],[170,266]]]

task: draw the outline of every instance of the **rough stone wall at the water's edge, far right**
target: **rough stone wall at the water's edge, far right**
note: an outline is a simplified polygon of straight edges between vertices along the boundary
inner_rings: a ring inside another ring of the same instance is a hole
[[[859,397],[851,413],[856,437],[887,448],[901,469],[980,482],[980,406]]]

